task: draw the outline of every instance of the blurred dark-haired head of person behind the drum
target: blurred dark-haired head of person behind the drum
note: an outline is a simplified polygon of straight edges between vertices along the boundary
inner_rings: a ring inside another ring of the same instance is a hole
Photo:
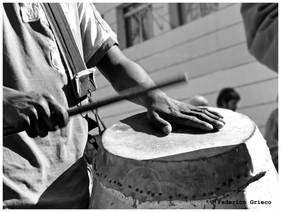
[[[224,88],[218,94],[216,104],[219,108],[235,111],[239,100],[240,95],[237,93],[237,91],[235,91],[233,88]]]

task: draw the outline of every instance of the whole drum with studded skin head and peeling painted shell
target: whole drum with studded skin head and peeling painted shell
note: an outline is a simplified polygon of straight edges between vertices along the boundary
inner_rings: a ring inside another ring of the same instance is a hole
[[[211,108],[226,125],[204,131],[146,113],[106,129],[96,157],[89,209],[274,209],[278,174],[266,141],[247,116]]]

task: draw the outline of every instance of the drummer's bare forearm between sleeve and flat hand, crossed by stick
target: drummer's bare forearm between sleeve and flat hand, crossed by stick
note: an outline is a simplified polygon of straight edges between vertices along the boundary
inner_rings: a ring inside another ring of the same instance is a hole
[[[107,78],[117,92],[139,86],[148,88],[155,83],[148,74],[135,62],[130,61],[120,50],[112,47],[108,54],[97,64],[97,68]],[[112,54],[119,55],[113,57]],[[147,92],[144,95],[131,98],[129,101],[147,107],[148,103],[158,95],[165,95],[159,89]]]

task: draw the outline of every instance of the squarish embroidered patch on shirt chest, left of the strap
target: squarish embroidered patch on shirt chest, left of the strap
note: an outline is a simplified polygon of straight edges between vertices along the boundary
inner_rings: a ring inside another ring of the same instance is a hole
[[[38,3],[19,3],[22,21],[29,23],[40,19]]]

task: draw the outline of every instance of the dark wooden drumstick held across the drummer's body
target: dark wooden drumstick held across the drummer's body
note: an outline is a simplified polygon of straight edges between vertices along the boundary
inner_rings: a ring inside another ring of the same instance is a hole
[[[103,106],[106,106],[106,105],[109,105],[109,104],[112,104],[112,103],[115,103],[115,102],[118,102],[118,101],[121,101],[121,100],[124,100],[124,99],[135,97],[137,95],[146,93],[148,91],[152,91],[152,90],[155,90],[155,89],[158,89],[158,88],[163,88],[163,87],[166,87],[166,86],[169,86],[169,85],[174,85],[174,84],[183,83],[183,82],[187,82],[187,75],[185,73],[180,74],[179,76],[176,76],[176,77],[174,77],[172,79],[169,79],[167,81],[160,82],[157,85],[149,87],[149,88],[144,89],[144,88],[140,88],[139,86],[137,86],[137,87],[133,87],[131,89],[127,89],[125,91],[120,91],[119,92],[120,95],[115,94],[115,95],[112,95],[110,97],[99,99],[99,100],[97,100],[93,103],[90,103],[88,105],[68,109],[67,113],[68,113],[68,116],[77,115],[79,113],[83,113],[83,112],[86,112],[86,111],[89,111],[89,110],[93,110],[93,109],[96,109],[96,108],[99,108],[99,107],[103,107]],[[3,138],[6,137],[6,136],[10,136],[10,135],[22,132],[22,131],[24,131],[24,130],[16,129],[14,127],[5,127],[5,128],[3,128]]]

